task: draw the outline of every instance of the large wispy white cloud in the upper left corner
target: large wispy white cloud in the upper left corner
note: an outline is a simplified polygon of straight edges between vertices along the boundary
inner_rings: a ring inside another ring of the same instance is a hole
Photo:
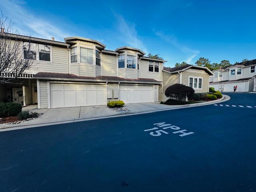
[[[26,2],[17,0],[0,1],[0,7],[4,16],[7,16],[14,22],[14,30],[17,29],[22,34],[31,34],[38,38],[51,39],[51,37],[55,37],[57,41],[63,41],[63,38],[68,36],[64,30],[30,13],[22,6],[24,4]]]

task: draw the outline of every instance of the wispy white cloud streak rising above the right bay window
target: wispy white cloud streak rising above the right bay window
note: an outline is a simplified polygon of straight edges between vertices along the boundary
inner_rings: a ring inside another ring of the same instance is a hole
[[[121,39],[128,45],[134,48],[139,48],[142,51],[148,53],[147,48],[143,42],[139,39],[135,24],[127,22],[123,16],[115,14],[117,19],[117,29],[120,33]]]

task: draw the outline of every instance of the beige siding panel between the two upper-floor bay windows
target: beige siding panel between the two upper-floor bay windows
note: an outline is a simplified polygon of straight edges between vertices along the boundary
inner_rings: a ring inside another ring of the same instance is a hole
[[[116,56],[102,54],[102,76],[116,76]]]

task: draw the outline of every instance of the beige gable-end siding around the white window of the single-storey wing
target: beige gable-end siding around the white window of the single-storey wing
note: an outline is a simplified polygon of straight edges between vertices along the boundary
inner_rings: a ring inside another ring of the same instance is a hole
[[[203,79],[202,89],[195,90],[195,93],[209,92],[209,74],[208,73],[206,73],[204,70],[196,70],[196,69],[187,69],[185,71],[182,71],[182,84],[189,86],[188,85],[189,77],[201,77]]]

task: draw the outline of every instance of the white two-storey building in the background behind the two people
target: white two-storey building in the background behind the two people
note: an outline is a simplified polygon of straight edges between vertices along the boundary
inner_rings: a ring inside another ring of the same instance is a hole
[[[222,67],[212,71],[210,87],[221,92],[232,92],[237,86],[238,92],[256,91],[256,59]]]

